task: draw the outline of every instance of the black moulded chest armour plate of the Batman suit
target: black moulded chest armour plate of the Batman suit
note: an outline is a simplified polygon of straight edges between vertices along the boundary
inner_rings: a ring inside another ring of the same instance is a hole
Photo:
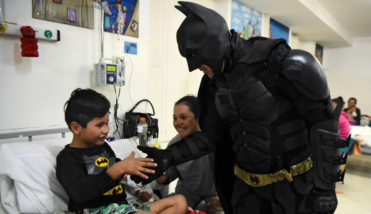
[[[254,77],[256,72],[265,72],[265,64],[241,64],[214,80],[218,87],[216,108],[230,128],[241,121],[266,126],[278,118],[279,102],[263,82]]]

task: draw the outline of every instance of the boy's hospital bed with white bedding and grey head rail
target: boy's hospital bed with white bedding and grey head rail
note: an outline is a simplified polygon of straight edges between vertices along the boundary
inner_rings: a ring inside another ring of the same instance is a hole
[[[67,127],[0,131],[0,214],[55,213],[67,210],[68,197],[55,177],[56,156],[71,142]],[[34,136],[57,135],[59,139],[35,140]],[[23,138],[19,138],[23,137]],[[17,142],[14,138],[19,138]],[[28,142],[24,141],[28,138]],[[6,142],[9,139],[12,142]],[[15,142],[14,142],[15,141]],[[131,151],[140,156],[135,139],[109,142],[118,158],[124,159]],[[161,196],[169,194],[168,187]],[[127,193],[127,200],[135,196]]]

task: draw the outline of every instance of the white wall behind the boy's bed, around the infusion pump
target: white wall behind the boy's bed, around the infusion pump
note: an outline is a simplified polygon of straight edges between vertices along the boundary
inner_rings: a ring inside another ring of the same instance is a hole
[[[100,57],[100,10],[94,10],[94,29],[32,18],[32,1],[5,0],[7,22],[60,30],[60,42],[39,40],[39,57],[20,56],[19,37],[0,37],[0,130],[65,125],[63,105],[75,88],[92,88],[108,96],[114,105],[114,88],[92,85],[92,68]],[[130,55],[134,64],[131,97],[134,102],[147,96],[149,0],[139,1],[139,38],[105,33],[104,56],[123,54],[123,42],[138,43],[138,55]],[[126,86],[121,104],[126,112],[131,63],[128,60]],[[138,86],[140,84],[140,87]],[[142,107],[143,108],[143,107]]]

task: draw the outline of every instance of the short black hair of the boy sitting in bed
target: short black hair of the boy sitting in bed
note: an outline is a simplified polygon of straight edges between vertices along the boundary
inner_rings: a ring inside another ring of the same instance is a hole
[[[86,128],[94,118],[105,116],[109,108],[111,108],[111,103],[101,93],[89,88],[77,88],[73,90],[70,99],[65,103],[65,121],[70,130],[72,122]]]

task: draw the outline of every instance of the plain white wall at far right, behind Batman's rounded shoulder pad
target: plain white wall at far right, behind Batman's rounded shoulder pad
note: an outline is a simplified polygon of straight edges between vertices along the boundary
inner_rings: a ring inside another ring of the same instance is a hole
[[[371,115],[371,37],[355,38],[352,47],[324,48],[323,66],[332,98],[357,98],[362,114]]]

